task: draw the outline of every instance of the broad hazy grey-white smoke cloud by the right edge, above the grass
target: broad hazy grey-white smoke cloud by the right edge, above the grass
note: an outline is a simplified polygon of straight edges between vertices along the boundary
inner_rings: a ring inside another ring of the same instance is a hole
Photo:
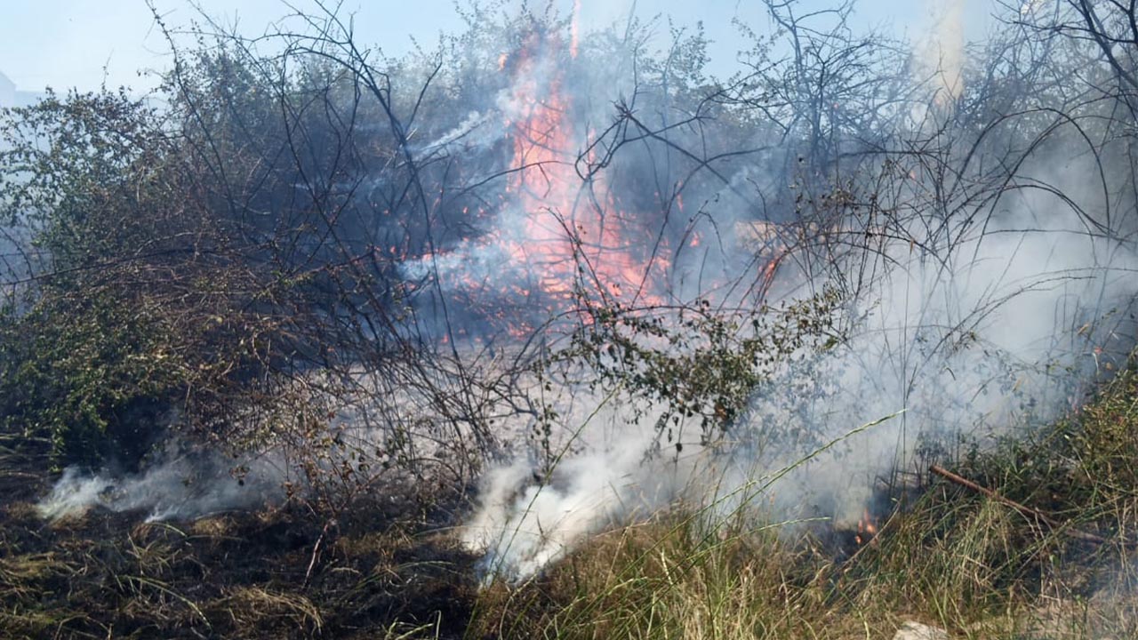
[[[1050,421],[1108,374],[1096,353],[1125,356],[1133,327],[1111,323],[1111,312],[1132,305],[1138,257],[1070,229],[1013,231],[1020,222],[962,243],[946,256],[949,269],[920,249],[890,252],[898,266],[867,301],[857,334],[814,371],[827,395],[764,415],[831,437],[899,408],[906,415],[774,487],[783,515],[856,520],[874,481],[912,468],[920,450]],[[761,457],[744,460],[762,471]]]

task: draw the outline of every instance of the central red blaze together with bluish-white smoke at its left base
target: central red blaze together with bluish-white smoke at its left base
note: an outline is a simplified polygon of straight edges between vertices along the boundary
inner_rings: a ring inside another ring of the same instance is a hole
[[[571,312],[579,295],[628,305],[665,302],[671,266],[661,228],[667,215],[626,211],[608,166],[599,169],[608,158],[596,157],[595,133],[583,124],[588,118],[569,84],[576,49],[571,25],[568,38],[535,27],[497,59],[506,80],[497,99],[509,155],[505,183],[497,202],[463,210],[471,228],[494,220],[493,228],[457,247],[421,254],[409,268],[417,278],[434,271],[452,279],[447,288],[463,306],[517,338],[528,337],[536,322]],[[682,210],[678,187],[675,199]],[[691,240],[700,243],[699,236]],[[477,268],[467,269],[467,261]]]

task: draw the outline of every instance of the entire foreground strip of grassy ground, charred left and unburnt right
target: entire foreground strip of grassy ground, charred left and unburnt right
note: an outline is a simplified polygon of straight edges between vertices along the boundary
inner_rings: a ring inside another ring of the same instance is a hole
[[[475,585],[438,528],[361,504],[329,530],[297,509],[139,525],[43,524],[0,502],[0,629],[13,638],[853,640],[905,621],[955,639],[1138,637],[1138,375],[1071,419],[956,460],[1059,528],[939,478],[864,547],[676,507],[595,536],[525,584]],[[947,462],[946,462],[947,463]],[[888,503],[888,500],[885,501]],[[1067,528],[1107,539],[1072,539]]]

